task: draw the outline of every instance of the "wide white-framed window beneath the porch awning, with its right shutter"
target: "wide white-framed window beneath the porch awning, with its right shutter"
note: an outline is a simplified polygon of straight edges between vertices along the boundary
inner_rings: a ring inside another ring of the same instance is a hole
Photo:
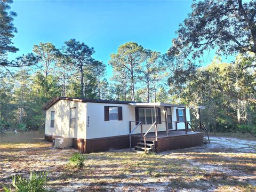
[[[158,111],[156,110],[156,118],[158,119]],[[155,122],[154,108],[139,108],[139,121],[142,124],[153,124]]]

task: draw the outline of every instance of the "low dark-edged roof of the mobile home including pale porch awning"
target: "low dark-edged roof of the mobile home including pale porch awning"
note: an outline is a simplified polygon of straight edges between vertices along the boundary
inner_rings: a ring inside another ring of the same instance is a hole
[[[94,103],[111,103],[111,104],[125,104],[132,106],[165,106],[165,107],[186,107],[185,105],[175,105],[170,103],[161,102],[132,102],[132,101],[114,101],[114,100],[102,100],[102,99],[86,99],[86,98],[74,98],[74,97],[56,97],[47,103],[43,110],[49,109],[59,100],[68,100],[76,102],[94,102]]]

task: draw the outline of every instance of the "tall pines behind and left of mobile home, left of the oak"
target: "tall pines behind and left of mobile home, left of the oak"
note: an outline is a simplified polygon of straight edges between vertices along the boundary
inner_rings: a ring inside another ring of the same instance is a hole
[[[106,64],[93,59],[94,49],[75,39],[57,49],[34,45],[35,65],[1,73],[1,126],[20,130],[44,127],[43,106],[54,97],[168,102],[166,55],[125,43],[111,54],[111,81]],[[165,79],[165,81],[163,80]],[[161,80],[161,81],[160,81]]]

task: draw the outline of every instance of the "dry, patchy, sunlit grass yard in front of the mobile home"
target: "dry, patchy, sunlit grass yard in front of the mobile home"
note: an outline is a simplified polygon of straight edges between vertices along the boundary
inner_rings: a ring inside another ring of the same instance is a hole
[[[8,183],[14,173],[47,170],[54,191],[255,191],[255,153],[211,145],[151,155],[85,154],[85,166],[74,169],[68,159],[75,149],[54,149],[41,133],[8,133],[1,137],[0,178]]]

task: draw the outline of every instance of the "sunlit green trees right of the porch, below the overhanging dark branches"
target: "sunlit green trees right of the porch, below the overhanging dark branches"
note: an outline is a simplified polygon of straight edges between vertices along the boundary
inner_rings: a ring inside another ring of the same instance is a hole
[[[215,58],[202,68],[177,63],[169,78],[172,92],[192,107],[206,107],[201,116],[210,131],[241,132],[239,125],[255,126],[255,59],[254,54],[238,55],[233,63]],[[191,112],[198,124],[198,111]]]

